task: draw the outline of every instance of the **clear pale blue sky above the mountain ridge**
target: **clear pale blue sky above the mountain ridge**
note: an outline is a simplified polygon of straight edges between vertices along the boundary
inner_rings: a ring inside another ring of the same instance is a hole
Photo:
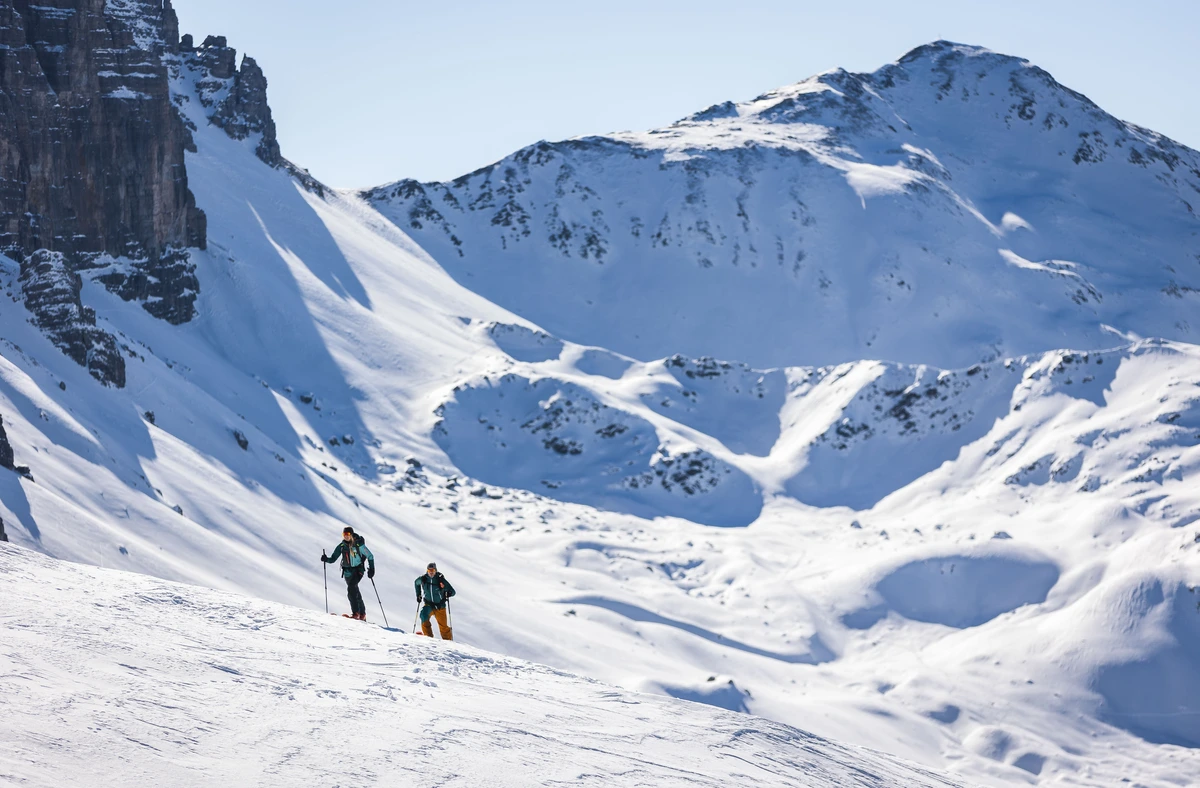
[[[1027,58],[1200,148],[1200,0],[174,0],[266,72],[283,155],[332,186],[443,180],[539,139],[668,124],[948,38]]]

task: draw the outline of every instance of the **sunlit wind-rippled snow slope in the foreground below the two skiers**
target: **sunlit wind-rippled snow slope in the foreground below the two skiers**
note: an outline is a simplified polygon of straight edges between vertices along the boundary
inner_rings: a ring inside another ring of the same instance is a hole
[[[0,782],[954,788],[470,646],[0,546]]]

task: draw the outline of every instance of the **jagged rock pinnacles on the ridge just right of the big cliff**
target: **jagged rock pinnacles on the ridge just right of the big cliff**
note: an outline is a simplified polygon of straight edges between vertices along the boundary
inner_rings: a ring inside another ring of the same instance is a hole
[[[226,43],[224,36],[209,36],[196,49],[191,48],[191,37],[185,37],[184,44],[180,52],[185,62],[205,73],[198,88],[200,102],[212,109],[209,120],[234,139],[262,134],[254,151],[258,157],[271,167],[284,164],[266,103],[266,77],[254,59],[242,56],[238,70],[238,50]]]

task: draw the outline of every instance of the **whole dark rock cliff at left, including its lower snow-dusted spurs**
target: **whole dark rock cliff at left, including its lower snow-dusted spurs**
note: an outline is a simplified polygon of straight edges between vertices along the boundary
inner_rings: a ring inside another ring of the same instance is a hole
[[[22,260],[35,321],[116,386],[116,342],[77,271],[107,269],[106,287],[170,323],[194,317],[186,248],[206,224],[170,100],[178,37],[170,0],[0,0],[0,253]]]

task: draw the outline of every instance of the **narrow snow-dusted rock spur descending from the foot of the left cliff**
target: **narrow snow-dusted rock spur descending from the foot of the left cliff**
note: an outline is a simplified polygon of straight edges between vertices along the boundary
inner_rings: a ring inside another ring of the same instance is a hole
[[[38,249],[20,264],[22,294],[37,327],[96,380],[120,389],[125,359],[116,339],[96,327],[96,312],[79,301],[82,284],[62,252]]]

